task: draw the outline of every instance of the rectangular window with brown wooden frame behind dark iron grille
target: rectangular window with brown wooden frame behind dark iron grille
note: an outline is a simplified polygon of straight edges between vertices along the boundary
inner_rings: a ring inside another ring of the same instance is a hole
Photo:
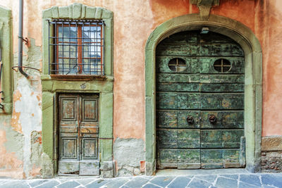
[[[49,21],[49,75],[104,75],[102,20]]]

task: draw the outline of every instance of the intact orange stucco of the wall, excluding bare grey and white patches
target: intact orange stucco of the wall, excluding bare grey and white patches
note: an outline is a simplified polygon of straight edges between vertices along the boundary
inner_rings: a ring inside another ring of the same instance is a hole
[[[197,13],[189,0],[25,0],[24,37],[42,45],[42,10],[74,2],[114,12],[114,137],[145,139],[145,44],[166,20]],[[12,9],[14,53],[18,50],[18,1]],[[221,0],[212,13],[238,20],[255,33],[263,49],[262,135],[282,135],[282,1]],[[40,60],[38,60],[40,61]]]

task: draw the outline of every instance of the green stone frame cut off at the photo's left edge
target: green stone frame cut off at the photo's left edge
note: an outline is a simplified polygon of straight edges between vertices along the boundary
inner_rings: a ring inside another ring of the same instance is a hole
[[[4,98],[0,114],[11,114],[13,111],[13,19],[10,9],[0,6],[0,40],[1,62],[3,63],[1,75],[1,97]]]

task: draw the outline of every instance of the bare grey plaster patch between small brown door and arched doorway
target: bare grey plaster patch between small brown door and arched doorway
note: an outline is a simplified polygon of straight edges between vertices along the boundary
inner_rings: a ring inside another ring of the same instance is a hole
[[[114,142],[114,158],[118,176],[140,175],[140,161],[145,160],[145,143],[142,139],[120,139]]]

